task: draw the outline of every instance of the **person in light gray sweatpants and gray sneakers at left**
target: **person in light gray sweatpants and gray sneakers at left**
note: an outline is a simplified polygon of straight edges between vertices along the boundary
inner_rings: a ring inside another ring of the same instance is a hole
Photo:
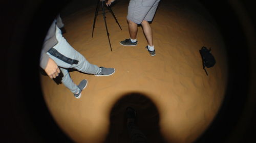
[[[104,68],[90,64],[62,36],[61,30],[56,24],[56,19],[50,26],[42,46],[40,67],[45,70],[50,78],[56,78],[61,71],[63,74],[61,82],[76,98],[81,97],[81,92],[86,88],[88,81],[83,79],[79,85],[76,85],[69,75],[69,68],[74,68],[83,73],[94,74],[95,76],[109,76],[115,72],[114,68]]]

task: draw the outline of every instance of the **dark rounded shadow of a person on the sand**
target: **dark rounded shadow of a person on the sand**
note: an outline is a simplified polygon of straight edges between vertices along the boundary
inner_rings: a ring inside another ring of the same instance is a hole
[[[110,129],[104,143],[132,143],[126,127],[126,107],[137,111],[136,125],[147,137],[148,142],[166,142],[160,133],[159,113],[155,104],[140,93],[122,96],[112,107]]]

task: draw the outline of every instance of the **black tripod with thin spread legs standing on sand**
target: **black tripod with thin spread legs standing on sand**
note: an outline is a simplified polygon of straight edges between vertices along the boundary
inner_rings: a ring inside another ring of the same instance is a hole
[[[110,43],[110,34],[109,34],[109,31],[108,31],[108,27],[106,26],[106,16],[105,16],[105,10],[104,10],[104,4],[105,4],[105,0],[99,0],[98,1],[98,4],[97,4],[97,7],[96,7],[96,11],[95,11],[95,16],[94,16],[94,21],[93,21],[93,32],[94,32],[94,27],[95,27],[95,22],[96,22],[96,17],[98,15],[98,11],[99,11],[99,3],[101,1],[101,6],[102,6],[102,12],[103,12],[103,19],[104,19],[104,22],[105,22],[105,27],[106,27],[106,35],[108,35],[108,38],[109,38],[109,43]],[[113,15],[113,17],[115,18],[118,26],[120,27],[120,29],[122,30],[121,26],[119,25],[112,9],[110,6],[107,6],[107,8],[109,9],[109,11],[111,12],[111,14]],[[93,33],[92,33],[92,38],[93,38]],[[112,51],[112,47],[111,47],[111,43],[110,43],[110,49]]]

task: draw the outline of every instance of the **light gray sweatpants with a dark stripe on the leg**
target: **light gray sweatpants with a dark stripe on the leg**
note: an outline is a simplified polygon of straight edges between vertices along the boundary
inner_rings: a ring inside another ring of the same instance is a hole
[[[63,73],[61,82],[72,92],[77,93],[78,87],[71,79],[68,69],[74,68],[88,74],[97,74],[101,70],[98,66],[90,64],[86,58],[76,51],[64,37],[60,29],[56,26],[56,39],[58,43],[52,47],[47,54],[59,66]]]

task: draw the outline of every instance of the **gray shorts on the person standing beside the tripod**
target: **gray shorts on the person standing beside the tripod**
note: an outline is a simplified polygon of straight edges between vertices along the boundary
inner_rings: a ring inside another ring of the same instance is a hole
[[[160,0],[130,0],[127,19],[137,24],[152,21]]]

